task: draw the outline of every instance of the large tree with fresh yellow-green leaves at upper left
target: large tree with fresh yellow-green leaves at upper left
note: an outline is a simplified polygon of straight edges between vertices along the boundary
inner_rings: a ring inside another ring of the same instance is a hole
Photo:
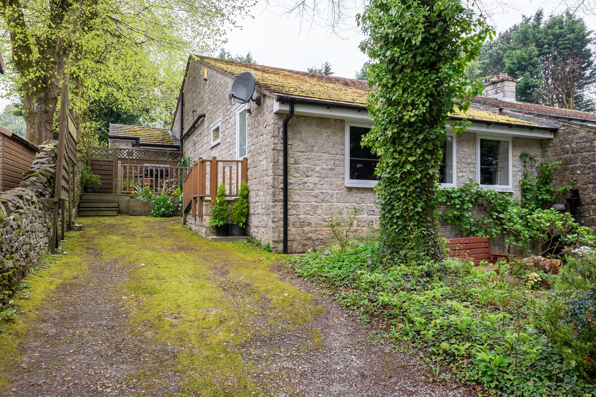
[[[114,82],[178,79],[183,54],[213,48],[248,1],[6,0],[2,46],[9,50],[11,92],[23,97],[27,136],[51,139],[67,76],[81,117]]]

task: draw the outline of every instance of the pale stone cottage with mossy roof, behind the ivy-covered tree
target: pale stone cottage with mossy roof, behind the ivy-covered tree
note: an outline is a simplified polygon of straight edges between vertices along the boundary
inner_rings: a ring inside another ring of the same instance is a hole
[[[235,77],[244,71],[256,77],[253,98],[260,97],[260,105],[237,104],[228,97]],[[195,160],[246,157],[249,232],[271,243],[274,251],[303,252],[330,237],[320,214],[344,214],[360,205],[355,232],[377,226],[377,158],[360,145],[372,126],[365,107],[369,91],[360,80],[191,57],[172,132],[183,137],[186,154]],[[548,120],[482,106],[452,118],[467,118],[472,125],[458,135],[445,127],[440,186],[476,180],[516,197],[519,155],[525,151],[541,160],[544,142],[551,142],[558,128]],[[200,233],[205,223],[206,217],[188,220]]]

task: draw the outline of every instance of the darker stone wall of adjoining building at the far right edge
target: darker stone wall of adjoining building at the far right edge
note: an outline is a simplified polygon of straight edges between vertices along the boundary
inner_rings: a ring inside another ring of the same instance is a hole
[[[554,174],[554,183],[578,189],[581,201],[578,221],[596,227],[596,127],[562,119],[557,123],[562,126],[552,142],[545,143],[542,160],[563,162]],[[561,201],[564,202],[563,198]]]

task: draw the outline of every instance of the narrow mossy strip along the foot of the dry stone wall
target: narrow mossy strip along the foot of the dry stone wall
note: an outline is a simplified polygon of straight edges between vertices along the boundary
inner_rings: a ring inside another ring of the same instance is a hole
[[[7,382],[5,374],[8,370],[21,364],[23,351],[19,346],[26,342],[28,331],[41,314],[44,303],[51,300],[58,286],[86,270],[86,252],[82,248],[84,239],[83,235],[67,233],[63,249],[69,251],[69,255],[48,255],[41,265],[21,280],[21,285],[29,285],[28,299],[20,298],[19,293],[11,296],[18,308],[18,320],[0,320],[0,329],[4,329],[0,333],[0,390]]]

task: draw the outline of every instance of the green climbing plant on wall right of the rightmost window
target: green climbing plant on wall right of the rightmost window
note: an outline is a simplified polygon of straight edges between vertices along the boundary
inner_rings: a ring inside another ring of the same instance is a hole
[[[558,196],[564,195],[573,187],[554,186],[552,175],[559,165],[563,164],[560,161],[542,161],[536,165],[536,159],[526,152],[520,154],[520,159],[524,170],[520,180],[523,207],[530,209],[550,207]],[[536,176],[532,176],[529,171],[534,167],[536,167]]]

